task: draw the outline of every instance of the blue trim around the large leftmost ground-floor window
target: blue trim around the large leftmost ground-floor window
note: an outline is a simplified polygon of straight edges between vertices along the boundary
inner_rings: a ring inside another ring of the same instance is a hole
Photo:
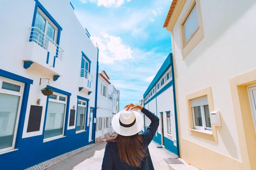
[[[33,84],[33,80],[28,79],[26,77],[19,76],[17,74],[13,74],[11,72],[8,72],[2,69],[0,69],[0,76],[5,77],[7,79],[12,79],[18,82],[25,83],[23,98],[22,98],[21,108],[20,108],[20,117],[18,118],[19,122],[18,122],[17,136],[15,141],[15,148],[17,149],[18,143],[22,139],[23,127],[24,127],[25,116],[26,116],[26,108],[27,108],[28,99],[29,99],[29,90],[30,90],[30,85]]]

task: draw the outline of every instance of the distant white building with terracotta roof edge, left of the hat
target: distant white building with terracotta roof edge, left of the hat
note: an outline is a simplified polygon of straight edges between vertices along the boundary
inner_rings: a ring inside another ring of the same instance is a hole
[[[119,111],[120,94],[114,85],[109,82],[108,74],[105,71],[99,71],[98,77],[96,142],[108,138],[113,133],[111,120],[113,114]]]

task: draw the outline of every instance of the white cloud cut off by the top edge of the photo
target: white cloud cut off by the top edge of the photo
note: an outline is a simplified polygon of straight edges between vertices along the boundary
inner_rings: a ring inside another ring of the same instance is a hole
[[[110,8],[112,6],[114,7],[120,7],[123,3],[125,3],[124,0],[80,0],[82,3],[87,3],[87,1],[90,1],[91,3],[97,3],[97,6],[105,6],[107,8]],[[131,0],[127,0],[127,2],[130,2]]]

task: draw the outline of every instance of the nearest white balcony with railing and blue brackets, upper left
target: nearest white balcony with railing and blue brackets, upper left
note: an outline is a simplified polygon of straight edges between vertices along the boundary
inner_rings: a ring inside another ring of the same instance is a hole
[[[28,69],[33,65],[41,71],[52,73],[56,80],[56,77],[63,75],[63,52],[64,50],[44,32],[37,27],[32,27],[29,41],[26,42],[23,67]]]

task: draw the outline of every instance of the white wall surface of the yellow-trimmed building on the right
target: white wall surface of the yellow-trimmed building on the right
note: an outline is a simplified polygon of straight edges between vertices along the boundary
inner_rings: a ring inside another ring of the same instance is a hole
[[[188,0],[173,28],[180,130],[184,139],[241,161],[229,79],[256,68],[256,1],[200,0],[204,38],[182,59],[180,23]],[[216,12],[218,11],[218,12]],[[185,96],[211,86],[213,105],[221,113],[218,143],[189,134]]]

